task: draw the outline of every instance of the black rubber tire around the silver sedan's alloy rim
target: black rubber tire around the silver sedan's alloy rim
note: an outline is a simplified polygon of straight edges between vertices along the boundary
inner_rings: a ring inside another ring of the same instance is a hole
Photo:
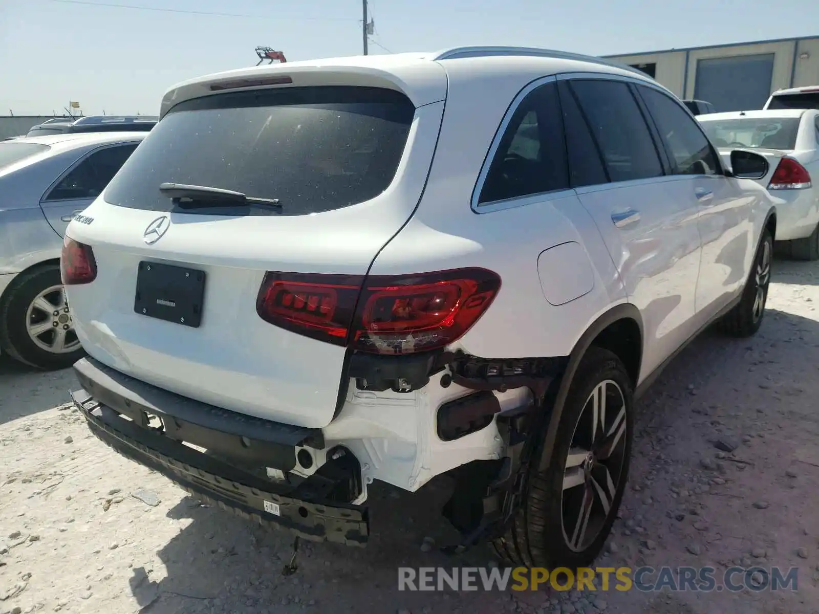
[[[53,312],[46,314],[44,310],[34,308],[29,314],[29,307],[32,307],[34,300],[43,291],[55,287],[61,288],[59,264],[43,264],[25,273],[20,273],[3,293],[2,300],[0,300],[0,347],[11,359],[30,367],[53,370],[70,367],[85,355],[79,341],[76,341],[76,333],[70,320],[66,323],[58,322],[58,325],[61,328],[66,325],[70,327],[67,332],[64,331],[66,332],[66,343],[69,348],[76,345],[78,349],[59,353],[49,351],[43,345],[48,345],[48,339],[53,339],[54,332],[47,331],[38,336],[42,345],[38,345],[29,335],[29,323],[52,323],[52,320],[57,320],[57,318],[65,319],[66,316],[70,316],[70,313],[65,310],[67,305],[63,308],[54,305],[54,311],[59,312],[58,316],[53,316]],[[56,294],[57,292],[54,291],[48,295],[48,298]]]

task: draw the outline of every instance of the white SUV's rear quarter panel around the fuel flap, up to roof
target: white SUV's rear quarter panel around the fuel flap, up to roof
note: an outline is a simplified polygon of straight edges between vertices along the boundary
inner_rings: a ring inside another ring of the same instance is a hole
[[[475,79],[472,62],[464,60],[449,63],[447,72],[446,111],[423,199],[370,273],[491,269],[500,275],[500,292],[458,345],[486,358],[568,355],[590,323],[626,300],[595,223],[572,190],[480,214],[470,206],[477,176],[510,103],[530,81],[548,73],[499,71],[491,80]],[[555,306],[544,296],[537,263],[543,251],[565,242],[579,243],[587,256],[585,262],[566,262],[565,267],[587,275],[590,266],[594,283],[583,296]]]

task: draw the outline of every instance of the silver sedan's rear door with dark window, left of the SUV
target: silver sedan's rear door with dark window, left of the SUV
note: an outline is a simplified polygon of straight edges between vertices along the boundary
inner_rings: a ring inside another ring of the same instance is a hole
[[[40,206],[57,234],[65,236],[71,219],[102,194],[138,144],[129,142],[97,147],[77,160],[48,188]]]

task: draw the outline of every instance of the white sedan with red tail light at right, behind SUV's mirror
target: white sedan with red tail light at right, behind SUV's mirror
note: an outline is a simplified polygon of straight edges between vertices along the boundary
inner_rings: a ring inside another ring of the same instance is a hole
[[[799,260],[819,260],[819,111],[735,111],[697,118],[729,164],[731,151],[749,148],[768,160],[758,183],[774,197],[776,241]]]

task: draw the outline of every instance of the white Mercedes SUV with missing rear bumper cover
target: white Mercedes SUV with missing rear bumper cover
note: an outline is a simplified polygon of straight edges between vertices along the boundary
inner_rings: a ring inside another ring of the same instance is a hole
[[[364,544],[373,481],[450,472],[455,547],[585,564],[636,395],[717,318],[762,322],[767,162],[731,164],[667,90],[589,56],[193,79],[68,228],[73,399],[121,454],[296,535]]]

